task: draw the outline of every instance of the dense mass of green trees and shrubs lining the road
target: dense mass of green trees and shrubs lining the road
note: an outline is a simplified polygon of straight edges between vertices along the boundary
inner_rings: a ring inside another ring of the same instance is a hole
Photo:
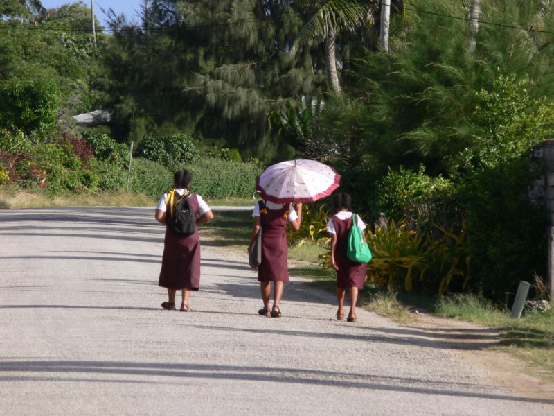
[[[94,34],[85,3],[3,1],[0,186],[154,201],[186,166],[251,198],[263,166],[318,159],[368,223],[368,284],[507,302],[546,275],[554,5],[391,3],[386,33],[379,1],[152,0]],[[291,243],[325,245],[329,212]]]

